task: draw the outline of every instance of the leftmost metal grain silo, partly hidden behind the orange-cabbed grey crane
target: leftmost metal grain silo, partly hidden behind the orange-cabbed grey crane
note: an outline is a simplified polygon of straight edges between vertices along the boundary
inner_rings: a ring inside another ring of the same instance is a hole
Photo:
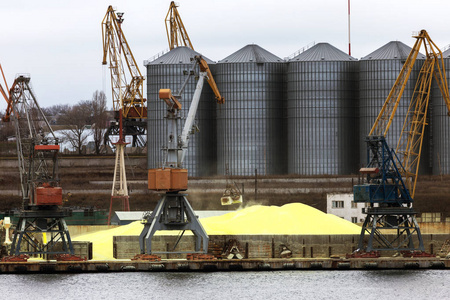
[[[186,79],[187,72],[192,68],[191,59],[195,55],[200,54],[187,47],[177,47],[155,60],[145,63],[147,67],[149,169],[161,166],[164,159],[161,146],[167,144],[167,123],[164,119],[167,105],[159,99],[159,90],[169,88],[173,93],[178,91]],[[209,65],[214,64],[213,61],[203,58]],[[184,116],[187,116],[196,84],[197,82],[192,76],[182,94],[181,104]],[[188,169],[189,176],[209,176],[216,173],[215,105],[214,94],[205,82],[196,116],[200,132],[191,136],[184,161],[184,167]]]

